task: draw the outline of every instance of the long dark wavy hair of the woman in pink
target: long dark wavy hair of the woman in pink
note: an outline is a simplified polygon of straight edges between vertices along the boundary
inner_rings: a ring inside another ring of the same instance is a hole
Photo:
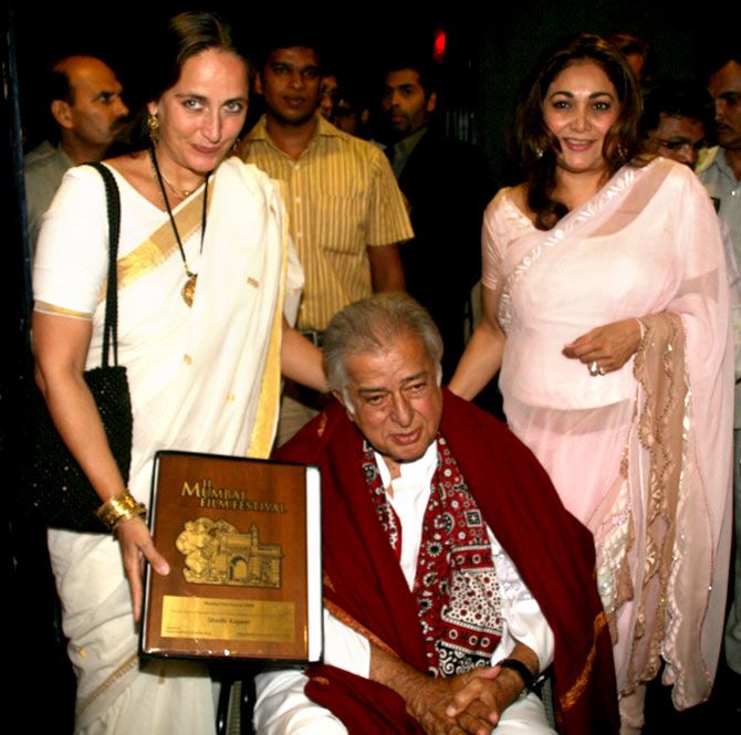
[[[543,57],[521,87],[511,132],[512,153],[526,177],[528,207],[541,230],[553,228],[568,211],[552,198],[560,144],[545,127],[543,103],[553,80],[582,61],[594,62],[607,74],[620,103],[618,118],[605,136],[603,147],[608,174],[612,176],[628,161],[641,165],[636,159],[641,147],[640,91],[625,57],[598,35],[582,33],[562,42]]]

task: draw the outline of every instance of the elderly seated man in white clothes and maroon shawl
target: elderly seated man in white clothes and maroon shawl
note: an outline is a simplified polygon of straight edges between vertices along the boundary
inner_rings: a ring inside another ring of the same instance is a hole
[[[258,733],[616,732],[591,535],[532,454],[440,388],[442,344],[411,297],[342,309],[335,402],[280,452],[322,470],[324,662],[258,678]],[[520,729],[518,729],[520,728]]]

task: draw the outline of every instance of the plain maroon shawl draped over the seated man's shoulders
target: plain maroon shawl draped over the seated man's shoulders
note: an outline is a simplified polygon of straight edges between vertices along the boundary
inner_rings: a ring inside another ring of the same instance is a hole
[[[563,507],[530,450],[492,416],[446,390],[440,433],[553,629],[560,732],[616,733],[612,643],[594,578],[592,535]],[[322,471],[325,606],[426,673],[415,600],[373,508],[362,452],[362,434],[333,401],[278,456]],[[386,686],[324,664],[307,673],[306,694],[351,733],[421,732]]]

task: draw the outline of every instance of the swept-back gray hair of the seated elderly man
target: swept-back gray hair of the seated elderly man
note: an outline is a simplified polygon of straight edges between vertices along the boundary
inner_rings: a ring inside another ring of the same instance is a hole
[[[376,294],[337,312],[324,333],[324,370],[330,389],[341,393],[347,408],[347,370],[351,355],[389,349],[404,336],[418,337],[435,363],[440,382],[442,338],[432,317],[411,296],[401,292]]]

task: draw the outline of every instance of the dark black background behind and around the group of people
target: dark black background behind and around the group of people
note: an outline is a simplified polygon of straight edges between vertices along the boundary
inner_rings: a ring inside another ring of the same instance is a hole
[[[651,46],[657,76],[701,78],[708,48],[734,38],[741,43],[739,2],[696,3],[651,0],[566,1],[513,0],[490,3],[477,13],[456,12],[455,3],[430,10],[427,6],[352,3],[328,7],[303,3],[210,3],[247,39],[247,50],[265,31],[283,22],[302,22],[319,29],[328,42],[331,59],[340,71],[356,70],[372,80],[378,61],[392,48],[431,46],[435,29],[447,33],[448,51],[442,67],[441,97],[449,113],[448,127],[486,150],[499,183],[505,179],[504,132],[520,80],[542,51],[567,33],[589,31],[607,34],[628,31]],[[2,8],[2,145],[3,269],[0,269],[0,459],[3,466],[8,512],[13,493],[18,455],[18,376],[24,368],[27,314],[30,306],[28,256],[24,244],[22,154],[43,138],[43,109],[38,92],[41,72],[51,61],[70,53],[90,53],[105,59],[124,85],[132,109],[138,80],[147,73],[152,46],[148,30],[161,27],[185,3],[98,2],[81,6],[60,3],[42,8],[19,2]],[[259,104],[259,101],[255,101]],[[22,143],[21,124],[25,135]],[[455,216],[455,213],[451,213]],[[3,689],[8,732],[71,732],[74,680],[65,663],[63,643],[52,611],[54,594],[43,559],[43,532],[3,522],[3,601],[8,641]],[[726,684],[721,680],[721,689]],[[741,700],[738,683],[730,690]],[[664,697],[666,700],[666,697]],[[712,711],[714,712],[714,711]],[[666,702],[649,707],[648,732],[697,732],[713,729],[712,712],[699,708],[697,716],[672,720]],[[683,723],[683,725],[682,725]]]

